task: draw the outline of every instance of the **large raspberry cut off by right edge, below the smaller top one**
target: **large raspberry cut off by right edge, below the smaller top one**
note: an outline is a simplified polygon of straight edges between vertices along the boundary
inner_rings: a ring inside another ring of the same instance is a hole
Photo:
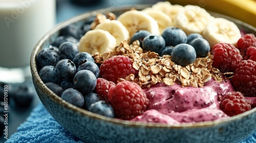
[[[231,78],[231,83],[236,91],[240,91],[247,97],[256,97],[256,62],[243,60]]]

